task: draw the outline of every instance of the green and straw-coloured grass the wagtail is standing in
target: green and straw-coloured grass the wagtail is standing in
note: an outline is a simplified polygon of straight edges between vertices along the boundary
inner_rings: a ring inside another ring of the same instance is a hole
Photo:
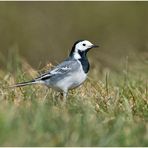
[[[98,79],[94,68],[61,106],[45,86],[8,89],[37,72],[18,58],[7,67],[0,71],[0,146],[148,146],[144,77],[125,70]]]

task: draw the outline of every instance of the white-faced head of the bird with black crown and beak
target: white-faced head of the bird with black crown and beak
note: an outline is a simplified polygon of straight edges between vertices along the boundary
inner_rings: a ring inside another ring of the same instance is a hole
[[[80,59],[81,55],[86,55],[86,53],[91,48],[99,47],[97,45],[92,44],[90,41],[87,40],[78,40],[74,43],[72,50],[70,52],[70,56],[73,56],[75,59]]]

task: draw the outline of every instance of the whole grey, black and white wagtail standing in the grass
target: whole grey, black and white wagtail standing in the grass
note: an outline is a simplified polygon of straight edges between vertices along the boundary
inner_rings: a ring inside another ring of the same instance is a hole
[[[80,86],[87,78],[89,71],[89,61],[87,52],[91,48],[96,48],[87,40],[78,40],[74,43],[69,57],[54,69],[47,71],[39,77],[14,85],[13,87],[26,86],[31,84],[45,84],[59,92],[66,99],[68,90]]]

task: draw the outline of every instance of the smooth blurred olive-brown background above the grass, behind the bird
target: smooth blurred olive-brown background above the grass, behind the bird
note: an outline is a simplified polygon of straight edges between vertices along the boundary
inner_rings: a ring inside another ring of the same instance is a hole
[[[14,50],[34,68],[63,60],[72,44],[87,39],[100,48],[92,66],[146,71],[148,2],[0,2],[0,65]]]

